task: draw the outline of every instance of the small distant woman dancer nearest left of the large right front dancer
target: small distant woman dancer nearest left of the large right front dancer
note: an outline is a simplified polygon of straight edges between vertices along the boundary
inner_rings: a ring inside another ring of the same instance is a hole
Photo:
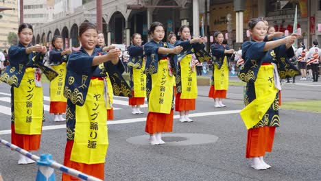
[[[228,45],[223,44],[224,36],[222,32],[215,32],[214,37],[215,43],[211,46],[214,60],[209,97],[214,99],[215,108],[221,108],[226,107],[222,100],[226,99],[226,91],[228,90],[228,62],[226,56],[234,53],[234,49],[230,49]]]

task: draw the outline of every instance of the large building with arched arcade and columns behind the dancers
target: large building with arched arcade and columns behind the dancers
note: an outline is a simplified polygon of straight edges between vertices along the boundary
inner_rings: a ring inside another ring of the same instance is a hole
[[[140,33],[148,40],[147,28],[153,21],[165,25],[165,32],[178,32],[181,25],[189,25],[193,36],[211,36],[216,30],[227,31],[232,45],[245,40],[248,21],[264,16],[278,31],[292,33],[294,12],[298,6],[300,41],[320,39],[318,23],[321,18],[320,1],[312,0],[102,0],[102,32],[106,44],[129,45],[130,35]],[[74,2],[74,1],[73,1]],[[96,23],[96,1],[56,0],[52,21],[36,27],[34,43],[48,43],[53,34],[60,34],[65,45],[78,47],[78,28],[84,21]],[[82,5],[81,5],[82,4]],[[228,18],[230,17],[230,18]],[[227,21],[230,19],[230,21]],[[321,25],[320,25],[321,32]],[[47,37],[47,40],[41,37]],[[164,39],[165,40],[165,39]],[[67,43],[67,44],[66,44]],[[64,45],[64,46],[65,46]]]

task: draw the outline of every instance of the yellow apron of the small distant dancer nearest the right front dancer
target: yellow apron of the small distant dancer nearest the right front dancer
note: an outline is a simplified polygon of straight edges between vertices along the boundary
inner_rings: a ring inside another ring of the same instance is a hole
[[[228,64],[226,56],[224,57],[221,69],[214,64],[214,86],[215,90],[228,90]]]

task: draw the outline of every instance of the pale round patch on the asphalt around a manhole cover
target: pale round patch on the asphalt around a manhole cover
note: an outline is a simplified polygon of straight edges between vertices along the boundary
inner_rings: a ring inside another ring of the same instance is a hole
[[[126,141],[134,145],[150,145],[149,139],[150,135],[141,135],[128,138]],[[218,137],[211,134],[178,133],[163,134],[162,139],[167,146],[187,146],[215,143]]]

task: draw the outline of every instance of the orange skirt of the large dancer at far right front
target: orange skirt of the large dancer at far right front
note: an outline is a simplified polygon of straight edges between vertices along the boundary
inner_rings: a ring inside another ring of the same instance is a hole
[[[275,127],[263,126],[248,130],[246,143],[246,158],[265,156],[265,152],[272,152]]]

